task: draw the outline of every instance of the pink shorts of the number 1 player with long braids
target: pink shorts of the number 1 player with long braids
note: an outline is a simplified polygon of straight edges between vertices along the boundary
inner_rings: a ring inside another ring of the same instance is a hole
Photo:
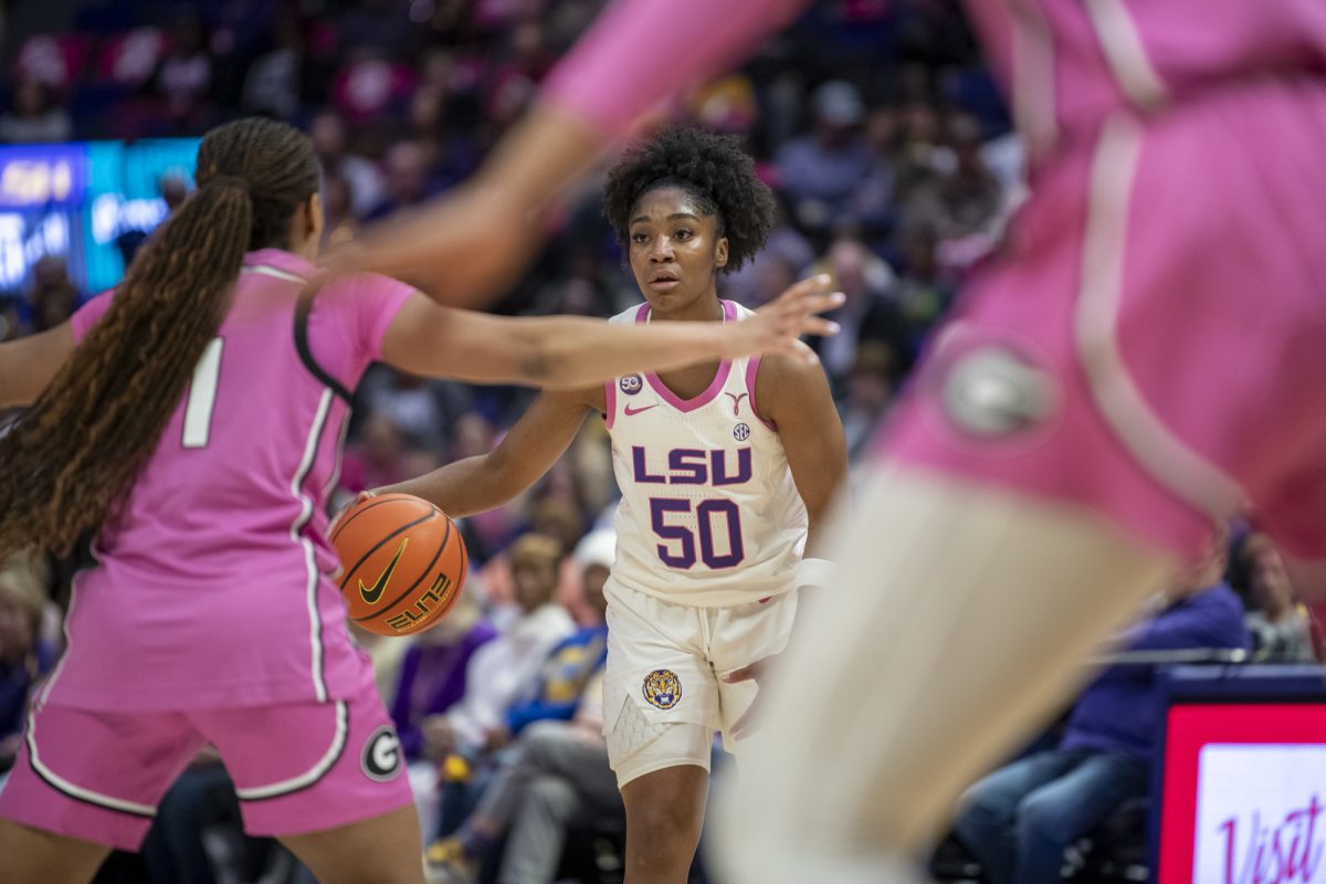
[[[212,744],[251,835],[345,826],[412,803],[373,683],[350,700],[183,712],[29,712],[0,816],[137,851],[156,804]]]

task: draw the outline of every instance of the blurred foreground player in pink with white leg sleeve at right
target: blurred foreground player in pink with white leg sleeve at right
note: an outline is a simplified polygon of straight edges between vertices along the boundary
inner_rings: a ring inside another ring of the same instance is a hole
[[[448,204],[345,265],[491,239],[802,5],[621,0],[461,195],[499,195],[487,232]],[[735,880],[880,880],[1216,520],[1250,512],[1326,587],[1326,5],[965,7],[1032,199],[882,435],[731,816]]]

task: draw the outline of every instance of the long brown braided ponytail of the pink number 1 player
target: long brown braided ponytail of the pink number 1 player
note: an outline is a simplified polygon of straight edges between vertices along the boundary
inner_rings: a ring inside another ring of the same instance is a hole
[[[68,554],[119,516],[220,329],[244,253],[288,244],[318,163],[298,130],[241,119],[203,138],[195,179],[105,317],[0,439],[0,557]]]

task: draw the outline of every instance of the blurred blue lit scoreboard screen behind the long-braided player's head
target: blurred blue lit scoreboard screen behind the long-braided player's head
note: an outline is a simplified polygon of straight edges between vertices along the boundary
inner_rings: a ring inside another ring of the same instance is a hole
[[[0,294],[24,292],[45,254],[86,292],[115,285],[115,241],[166,217],[160,180],[192,186],[196,154],[195,138],[0,146]]]

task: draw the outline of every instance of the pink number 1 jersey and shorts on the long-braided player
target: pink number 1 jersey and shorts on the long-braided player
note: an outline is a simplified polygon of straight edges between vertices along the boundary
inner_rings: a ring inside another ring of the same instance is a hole
[[[76,578],[69,647],[33,702],[0,815],[137,850],[207,742],[252,834],[322,830],[410,803],[324,531],[345,391],[411,289],[377,276],[334,282],[298,335],[310,270],[278,249],[247,257],[217,338],[122,520],[102,534],[98,565]],[[76,339],[111,297],[74,315]]]

